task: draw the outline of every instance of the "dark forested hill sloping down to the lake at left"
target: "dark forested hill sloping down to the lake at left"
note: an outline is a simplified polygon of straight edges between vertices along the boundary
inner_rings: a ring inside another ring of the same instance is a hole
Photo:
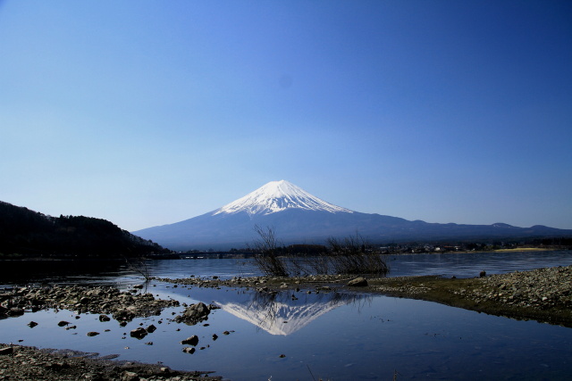
[[[0,258],[7,256],[135,257],[168,250],[105,219],[46,216],[0,202]]]

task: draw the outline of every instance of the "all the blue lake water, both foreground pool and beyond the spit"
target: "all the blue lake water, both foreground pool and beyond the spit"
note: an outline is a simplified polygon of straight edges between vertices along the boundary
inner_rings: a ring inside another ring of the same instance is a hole
[[[446,253],[387,258],[390,276],[474,277],[572,264],[572,253]],[[156,277],[258,275],[249,260],[153,261]],[[14,275],[14,273],[12,272]],[[66,277],[42,269],[31,283],[92,283],[126,288],[142,279],[125,266],[76,269]],[[15,277],[3,277],[4,285]],[[145,290],[144,290],[145,291]],[[119,360],[163,362],[173,369],[214,370],[231,380],[569,379],[572,329],[490,316],[434,302],[379,295],[304,290],[277,295],[241,288],[174,287],[154,282],[147,291],[180,302],[221,307],[207,321],[187,326],[171,321],[183,307],[120,327],[112,319],[82,314],[76,329],[58,327],[71,311],[38,311],[0,320],[0,342],[70,348]],[[27,326],[30,320],[37,327]],[[131,329],[154,324],[142,340]],[[89,331],[101,335],[88,337]],[[224,335],[228,332],[228,335]],[[180,341],[198,335],[197,352],[181,352]],[[217,338],[214,340],[214,336]],[[153,344],[148,344],[152,342]],[[204,348],[204,349],[199,349]]]

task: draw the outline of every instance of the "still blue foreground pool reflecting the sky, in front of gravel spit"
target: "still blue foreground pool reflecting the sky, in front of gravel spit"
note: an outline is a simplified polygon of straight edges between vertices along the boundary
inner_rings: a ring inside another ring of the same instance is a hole
[[[383,296],[324,294],[305,303],[302,298],[291,301],[289,294],[272,300],[267,295],[260,299],[254,292],[225,288],[167,288],[164,284],[151,288],[154,294],[170,295],[181,302],[240,305],[244,311],[251,309],[250,317],[264,315],[277,302],[281,309],[288,306],[279,319],[289,319],[289,323],[278,320],[277,324],[288,325],[297,319],[300,324],[288,335],[273,335],[253,319],[243,319],[224,308],[214,310],[196,326],[170,321],[172,313],[181,313],[182,307],[167,309],[160,317],[135,319],[127,327],[114,320],[102,323],[98,315],[74,319],[70,311],[43,311],[0,320],[0,342],[23,339],[21,344],[40,347],[117,353],[119,360],[216,370],[234,380],[267,380],[270,376],[273,380],[311,379],[308,368],[316,379],[335,380],[391,379],[394,369],[400,373],[398,379],[566,379],[572,372],[572,329],[565,327]],[[315,311],[322,304],[327,312],[313,315],[299,309],[313,304]],[[62,319],[77,328],[58,327]],[[28,327],[30,320],[38,326]],[[154,324],[157,330],[137,340],[129,332],[139,324]],[[101,335],[88,337],[89,331]],[[230,335],[223,335],[224,331]],[[204,347],[192,355],[181,352],[179,343],[190,335],[198,335],[198,348]]]

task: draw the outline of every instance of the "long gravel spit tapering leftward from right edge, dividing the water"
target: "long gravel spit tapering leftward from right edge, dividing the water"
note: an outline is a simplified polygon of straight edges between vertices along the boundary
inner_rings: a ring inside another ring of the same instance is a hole
[[[472,277],[357,277],[327,275],[310,277],[233,277],[229,280],[189,277],[157,279],[200,287],[240,286],[276,293],[299,288],[307,292],[359,292],[384,294],[453,307],[531,319],[572,327],[572,266],[516,271]],[[351,283],[354,286],[351,286]]]

